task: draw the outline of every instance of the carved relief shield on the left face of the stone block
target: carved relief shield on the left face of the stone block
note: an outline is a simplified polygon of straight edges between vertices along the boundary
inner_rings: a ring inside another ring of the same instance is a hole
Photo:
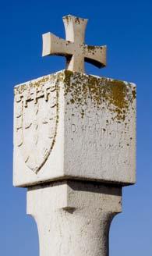
[[[25,164],[37,173],[55,144],[58,123],[57,84],[26,84],[26,87],[17,91],[15,100],[17,147]]]

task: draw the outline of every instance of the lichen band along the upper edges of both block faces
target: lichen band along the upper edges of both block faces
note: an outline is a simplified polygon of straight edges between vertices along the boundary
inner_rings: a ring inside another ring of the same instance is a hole
[[[14,91],[15,94],[18,94],[30,87],[39,90],[47,82],[52,85],[62,82],[65,96],[67,95],[69,98],[67,105],[74,105],[78,108],[82,117],[84,116],[84,109],[87,108],[90,101],[94,108],[107,108],[113,112],[115,115],[112,119],[116,119],[118,123],[125,121],[130,108],[134,110],[133,101],[136,98],[136,87],[133,87],[132,84],[98,76],[88,76],[69,70],[21,84],[15,87]]]

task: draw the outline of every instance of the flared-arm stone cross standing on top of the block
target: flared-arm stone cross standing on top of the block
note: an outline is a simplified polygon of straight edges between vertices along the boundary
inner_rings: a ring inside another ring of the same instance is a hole
[[[99,68],[106,66],[106,46],[84,44],[87,19],[64,16],[65,40],[50,32],[43,34],[43,53],[66,58],[66,69],[84,73],[84,61]]]

